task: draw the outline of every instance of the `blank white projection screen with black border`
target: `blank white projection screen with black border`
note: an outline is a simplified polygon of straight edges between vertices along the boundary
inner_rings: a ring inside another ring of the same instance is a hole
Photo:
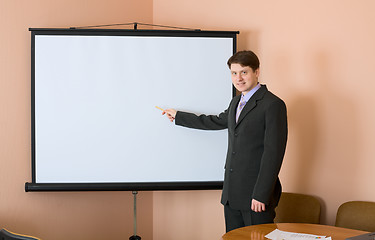
[[[222,187],[227,130],[160,108],[227,109],[238,32],[30,29],[32,182],[26,191]]]

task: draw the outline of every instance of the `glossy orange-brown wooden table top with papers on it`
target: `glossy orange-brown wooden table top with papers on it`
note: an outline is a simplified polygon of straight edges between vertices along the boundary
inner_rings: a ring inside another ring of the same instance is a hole
[[[264,240],[267,239],[264,236],[272,232],[276,228],[281,231],[287,232],[323,235],[327,237],[332,237],[332,240],[345,240],[348,237],[368,233],[359,230],[339,228],[320,224],[275,223],[238,228],[224,234],[221,240]]]

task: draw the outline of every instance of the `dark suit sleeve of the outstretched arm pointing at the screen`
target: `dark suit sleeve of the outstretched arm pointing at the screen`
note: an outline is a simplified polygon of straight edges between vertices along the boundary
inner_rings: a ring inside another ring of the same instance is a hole
[[[228,128],[228,110],[216,115],[195,115],[193,113],[178,111],[175,124],[188,128],[202,130],[221,130]]]

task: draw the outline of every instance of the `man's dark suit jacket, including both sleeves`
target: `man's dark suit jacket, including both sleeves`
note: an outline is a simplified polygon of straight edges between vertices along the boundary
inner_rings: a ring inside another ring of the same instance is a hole
[[[246,103],[236,123],[239,101],[240,96],[234,97],[228,109],[218,116],[178,111],[175,124],[204,130],[228,128],[221,203],[250,210],[254,198],[274,208],[281,195],[278,174],[287,141],[286,106],[262,85]]]

